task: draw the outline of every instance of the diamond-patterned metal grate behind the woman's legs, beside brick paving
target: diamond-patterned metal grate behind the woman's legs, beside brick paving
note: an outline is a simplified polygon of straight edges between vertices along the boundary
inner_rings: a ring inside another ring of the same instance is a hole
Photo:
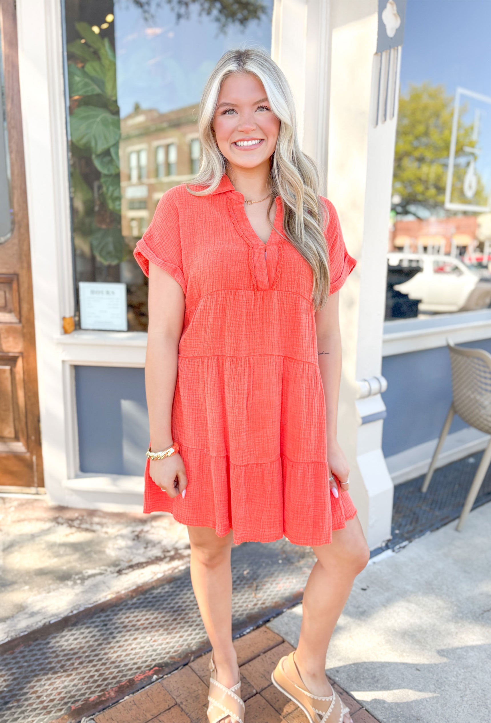
[[[233,549],[234,630],[297,602],[313,565],[286,540]],[[208,646],[188,570],[1,657],[2,723],[79,720]],[[92,701],[89,699],[92,698]]]

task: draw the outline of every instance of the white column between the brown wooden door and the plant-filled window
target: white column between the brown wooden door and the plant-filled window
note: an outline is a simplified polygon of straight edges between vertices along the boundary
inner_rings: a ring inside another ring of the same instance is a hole
[[[64,388],[53,340],[74,302],[60,3],[17,0],[17,28],[43,468],[51,497],[64,501]]]

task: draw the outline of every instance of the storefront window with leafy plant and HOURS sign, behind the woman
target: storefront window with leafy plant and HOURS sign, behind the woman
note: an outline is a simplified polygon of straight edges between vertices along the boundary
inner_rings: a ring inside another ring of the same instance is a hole
[[[199,169],[197,108],[215,62],[237,46],[270,51],[273,0],[62,2],[77,309],[83,294],[85,315],[77,311],[77,328],[146,330],[136,241],[162,194]]]

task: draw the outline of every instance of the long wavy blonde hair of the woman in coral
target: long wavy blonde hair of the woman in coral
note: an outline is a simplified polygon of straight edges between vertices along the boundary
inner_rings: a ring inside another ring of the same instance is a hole
[[[199,140],[201,163],[192,184],[206,188],[194,191],[203,196],[217,189],[227,169],[212,131],[220,87],[233,73],[251,73],[264,85],[271,111],[280,121],[276,149],[270,158],[268,188],[271,202],[280,196],[283,203],[283,226],[288,241],[308,262],[313,271],[312,302],[321,309],[329,295],[329,254],[323,231],[327,209],[319,197],[321,174],[312,158],[302,153],[297,139],[295,101],[282,70],[264,51],[256,48],[227,51],[212,70],[199,104]],[[268,215],[269,218],[269,215]]]

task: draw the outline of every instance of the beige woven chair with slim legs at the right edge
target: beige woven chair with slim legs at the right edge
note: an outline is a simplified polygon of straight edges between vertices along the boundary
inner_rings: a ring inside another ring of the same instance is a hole
[[[491,435],[491,354],[482,349],[463,349],[454,346],[450,339],[447,339],[447,346],[452,367],[453,399],[421,492],[426,492],[428,489],[454,414],[459,414],[460,418],[471,427],[476,427],[481,432]],[[491,441],[482,455],[471,489],[469,489],[457,525],[458,530],[462,529],[472,505],[474,505],[490,462]]]

